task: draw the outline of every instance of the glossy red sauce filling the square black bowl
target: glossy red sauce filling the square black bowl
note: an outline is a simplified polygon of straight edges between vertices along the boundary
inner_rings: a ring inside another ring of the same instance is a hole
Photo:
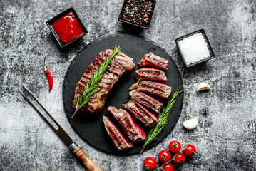
[[[79,24],[73,12],[70,12],[54,21],[52,24],[61,42],[66,44],[83,33],[83,28]]]

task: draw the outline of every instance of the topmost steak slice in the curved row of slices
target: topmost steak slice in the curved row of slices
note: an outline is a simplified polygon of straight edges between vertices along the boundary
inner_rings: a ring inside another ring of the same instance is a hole
[[[141,61],[138,63],[139,66],[150,66],[153,68],[168,70],[169,61],[167,59],[161,58],[160,56],[154,55],[152,52],[145,54]]]

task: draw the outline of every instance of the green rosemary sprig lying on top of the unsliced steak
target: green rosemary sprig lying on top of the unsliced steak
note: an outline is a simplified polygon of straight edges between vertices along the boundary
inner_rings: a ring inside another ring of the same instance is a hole
[[[86,86],[83,88],[83,92],[81,93],[81,95],[79,95],[78,99],[76,99],[76,111],[73,113],[71,118],[76,115],[78,110],[80,110],[83,105],[86,105],[86,103],[88,103],[88,100],[90,100],[91,96],[94,93],[98,92],[98,81],[101,80],[103,73],[106,72],[109,63],[111,63],[112,61],[112,58],[116,56],[116,53],[118,53],[118,51],[120,50],[120,46],[115,46],[114,50],[111,53],[111,56],[108,57],[106,61],[101,63],[101,66],[98,67],[96,73],[91,76],[91,79],[87,80]]]

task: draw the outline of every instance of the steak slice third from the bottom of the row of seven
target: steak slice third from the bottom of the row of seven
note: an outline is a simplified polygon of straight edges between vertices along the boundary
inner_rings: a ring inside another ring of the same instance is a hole
[[[130,112],[132,112],[133,115],[138,118],[138,120],[143,122],[149,128],[152,128],[155,123],[158,122],[158,118],[153,113],[150,113],[150,111],[148,111],[135,100],[130,100],[123,106],[130,110]]]

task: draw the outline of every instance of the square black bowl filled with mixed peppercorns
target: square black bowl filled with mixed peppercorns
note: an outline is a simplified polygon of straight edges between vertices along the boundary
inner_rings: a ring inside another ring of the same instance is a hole
[[[155,9],[153,0],[125,0],[119,15],[119,21],[148,28]]]

